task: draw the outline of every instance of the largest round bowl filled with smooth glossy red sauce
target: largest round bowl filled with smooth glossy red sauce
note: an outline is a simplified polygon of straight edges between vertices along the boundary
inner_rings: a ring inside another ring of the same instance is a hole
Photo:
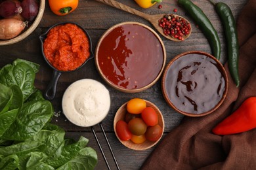
[[[95,64],[102,78],[127,93],[153,86],[163,72],[165,60],[165,46],[159,35],[138,22],[110,27],[95,50]]]

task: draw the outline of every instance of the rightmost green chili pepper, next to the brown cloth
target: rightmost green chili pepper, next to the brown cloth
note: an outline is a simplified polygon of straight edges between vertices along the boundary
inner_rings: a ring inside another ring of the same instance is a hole
[[[215,9],[224,27],[224,33],[226,37],[226,46],[228,48],[228,69],[230,74],[238,87],[240,79],[238,75],[238,33],[236,31],[236,22],[232,11],[225,3],[216,3]]]

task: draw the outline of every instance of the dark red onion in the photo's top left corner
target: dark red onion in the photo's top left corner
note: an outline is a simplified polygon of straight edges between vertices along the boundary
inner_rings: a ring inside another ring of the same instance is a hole
[[[16,14],[22,12],[20,1],[18,0],[6,0],[0,4],[0,16],[3,18],[10,18]]]

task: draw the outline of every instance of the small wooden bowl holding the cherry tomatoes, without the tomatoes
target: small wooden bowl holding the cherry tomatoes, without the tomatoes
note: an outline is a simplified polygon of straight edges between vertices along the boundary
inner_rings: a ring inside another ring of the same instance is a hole
[[[118,120],[125,120],[125,114],[127,112],[126,106],[127,106],[127,103],[124,103],[123,105],[121,105],[121,107],[116,112],[116,116],[114,118],[114,131],[115,131],[115,133],[116,133],[116,123],[118,122]],[[161,111],[158,109],[158,107],[156,107],[156,105],[154,105],[150,101],[146,101],[146,106],[147,107],[152,107],[156,111],[156,113],[158,114],[158,124],[163,128],[163,131],[164,131],[165,123],[164,123],[163,115],[161,114]],[[161,134],[161,137],[162,136],[163,136],[163,132]],[[148,148],[151,148],[152,146],[154,146],[155,144],[157,144],[161,140],[161,137],[160,137],[160,139],[158,139],[158,141],[156,141],[156,142],[151,142],[151,141],[146,140],[144,143],[135,144],[131,140],[122,141],[121,139],[119,139],[117,133],[116,133],[116,137],[120,141],[120,143],[122,143],[127,148],[131,148],[133,150],[146,150]]]

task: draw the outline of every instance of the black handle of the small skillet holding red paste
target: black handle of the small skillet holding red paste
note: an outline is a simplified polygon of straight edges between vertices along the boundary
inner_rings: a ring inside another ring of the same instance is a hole
[[[53,100],[56,94],[56,86],[58,78],[60,78],[61,73],[54,70],[51,82],[48,84],[47,89],[45,90],[44,97],[47,100]]]

